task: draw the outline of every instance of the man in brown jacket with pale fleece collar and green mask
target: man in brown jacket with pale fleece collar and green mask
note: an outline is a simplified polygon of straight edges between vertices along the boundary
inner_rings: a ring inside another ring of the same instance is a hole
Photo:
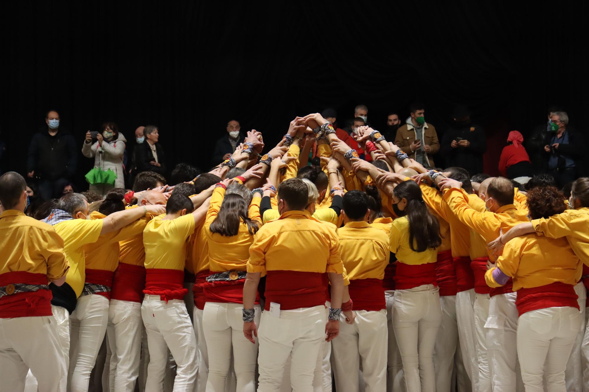
[[[425,122],[422,104],[411,105],[409,111],[411,115],[397,130],[395,144],[423,167],[435,167],[432,155],[440,149],[436,128]]]

